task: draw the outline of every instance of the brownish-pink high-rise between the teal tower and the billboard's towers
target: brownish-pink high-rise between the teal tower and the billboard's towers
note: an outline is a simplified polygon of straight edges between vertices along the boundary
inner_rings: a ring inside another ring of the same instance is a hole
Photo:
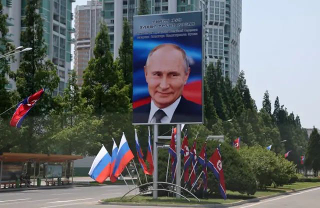
[[[99,31],[99,22],[101,21],[101,9],[102,4],[96,0],[87,1],[86,5],[75,6],[73,69],[76,71],[77,83],[80,87],[83,83],[83,70],[88,66],[88,62],[93,56],[95,36]]]

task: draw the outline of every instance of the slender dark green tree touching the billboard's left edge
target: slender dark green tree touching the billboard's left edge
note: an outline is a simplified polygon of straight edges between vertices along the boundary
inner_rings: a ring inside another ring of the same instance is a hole
[[[122,72],[123,80],[129,87],[129,97],[132,102],[132,68],[133,68],[133,41],[130,33],[130,25],[127,20],[123,21],[122,43],[119,48],[117,66]]]

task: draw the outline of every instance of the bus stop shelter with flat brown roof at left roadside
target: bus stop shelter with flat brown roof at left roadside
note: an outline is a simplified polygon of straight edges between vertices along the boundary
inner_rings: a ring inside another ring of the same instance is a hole
[[[60,162],[60,163],[72,163],[72,176],[71,181],[73,182],[73,162],[76,159],[82,159],[83,156],[80,155],[63,155],[63,154],[36,154],[36,153],[3,153],[0,155],[0,187],[1,187],[1,180],[2,180],[2,165],[3,162],[33,162],[34,164],[34,172],[33,172],[33,185],[35,182],[35,164],[36,162],[39,163],[39,170],[38,174],[40,173],[40,164],[41,163],[49,163],[49,162]],[[46,165],[47,167],[47,165]],[[65,175],[66,175],[65,168]],[[47,170],[46,170],[47,172]],[[47,176],[47,174],[45,174]],[[65,176],[64,176],[65,177]],[[46,178],[47,179],[47,178]]]

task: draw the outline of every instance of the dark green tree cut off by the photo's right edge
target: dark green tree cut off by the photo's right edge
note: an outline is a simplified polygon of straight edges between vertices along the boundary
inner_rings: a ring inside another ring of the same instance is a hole
[[[314,174],[320,169],[320,134],[313,126],[306,148],[304,164],[313,169]],[[315,175],[316,176],[316,175]]]

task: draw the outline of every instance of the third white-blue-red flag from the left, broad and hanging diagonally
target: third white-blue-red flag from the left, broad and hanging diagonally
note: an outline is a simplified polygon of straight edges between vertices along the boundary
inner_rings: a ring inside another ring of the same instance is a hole
[[[134,158],[132,151],[129,148],[128,142],[126,141],[124,132],[119,145],[119,150],[115,158],[114,164],[114,176],[118,177],[126,165]]]

